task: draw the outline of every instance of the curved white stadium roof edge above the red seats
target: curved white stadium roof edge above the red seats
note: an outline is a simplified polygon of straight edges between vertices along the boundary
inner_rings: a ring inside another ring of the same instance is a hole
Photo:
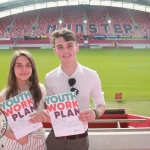
[[[0,0],[0,18],[49,7],[98,5],[150,12],[150,0]]]

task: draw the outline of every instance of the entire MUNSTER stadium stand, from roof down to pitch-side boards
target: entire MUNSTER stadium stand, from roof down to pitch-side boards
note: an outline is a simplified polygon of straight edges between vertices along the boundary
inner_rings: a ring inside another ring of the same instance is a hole
[[[62,24],[58,23],[62,19]],[[83,23],[84,19],[87,23]],[[111,19],[111,23],[108,20]],[[0,38],[12,39],[11,45],[1,47],[35,47],[48,41],[55,29],[67,27],[76,33],[80,47],[90,48],[149,48],[150,15],[147,12],[105,6],[64,6],[39,9],[0,19]],[[24,42],[28,36],[33,41]],[[20,38],[23,41],[20,41]],[[5,39],[5,40],[6,40]],[[40,42],[40,39],[43,41]],[[132,40],[131,40],[132,39]],[[142,39],[142,40],[141,40]],[[17,43],[15,44],[15,40]],[[85,44],[85,40],[87,44]],[[114,42],[116,41],[116,43]],[[37,43],[38,42],[38,43]],[[37,43],[37,44],[36,44]],[[50,46],[46,43],[45,47]]]

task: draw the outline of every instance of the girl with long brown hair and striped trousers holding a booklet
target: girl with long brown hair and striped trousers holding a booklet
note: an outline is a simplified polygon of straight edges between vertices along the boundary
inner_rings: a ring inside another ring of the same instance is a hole
[[[45,88],[39,83],[32,55],[27,51],[16,51],[11,59],[6,88],[0,93],[0,103],[29,90],[37,112],[44,109]],[[38,119],[38,118],[37,118]],[[5,132],[4,150],[46,150],[43,128],[40,128],[19,140],[10,126]]]

